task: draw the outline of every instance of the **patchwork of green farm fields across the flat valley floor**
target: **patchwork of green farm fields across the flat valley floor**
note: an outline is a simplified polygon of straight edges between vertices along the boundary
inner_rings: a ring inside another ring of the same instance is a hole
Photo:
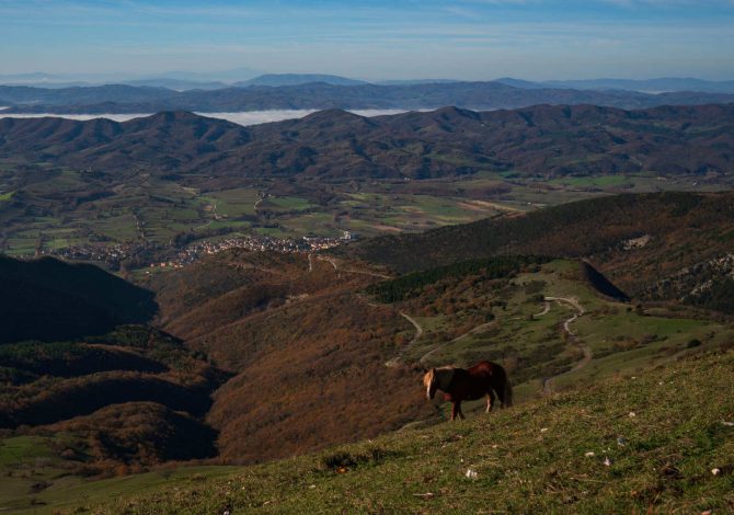
[[[5,163],[5,165],[8,165]],[[0,250],[33,255],[76,245],[171,245],[216,236],[359,237],[416,232],[620,192],[715,191],[724,184],[650,174],[537,181],[513,172],[423,181],[356,181],[322,187],[275,180],[202,191],[150,174],[119,184],[47,171],[24,185],[0,182]],[[355,191],[356,188],[356,191]],[[192,238],[193,236],[193,238]]]

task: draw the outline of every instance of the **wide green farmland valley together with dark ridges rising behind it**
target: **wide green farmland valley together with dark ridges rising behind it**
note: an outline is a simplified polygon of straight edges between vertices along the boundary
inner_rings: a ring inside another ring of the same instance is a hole
[[[187,113],[5,118],[0,250],[130,270],[227,238],[271,248],[268,238],[420,232],[623,192],[726,190],[729,111],[330,111],[250,128]],[[696,123],[680,129],[684,118]]]

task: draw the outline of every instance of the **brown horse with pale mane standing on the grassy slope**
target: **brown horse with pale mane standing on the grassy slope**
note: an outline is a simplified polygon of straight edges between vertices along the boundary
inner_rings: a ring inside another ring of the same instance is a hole
[[[486,412],[492,411],[494,392],[497,393],[502,408],[513,405],[513,386],[507,373],[496,363],[480,362],[471,368],[440,367],[432,368],[423,376],[426,387],[426,399],[431,400],[436,390],[441,390],[445,398],[454,403],[451,420],[461,413],[461,401],[474,401],[486,396]]]

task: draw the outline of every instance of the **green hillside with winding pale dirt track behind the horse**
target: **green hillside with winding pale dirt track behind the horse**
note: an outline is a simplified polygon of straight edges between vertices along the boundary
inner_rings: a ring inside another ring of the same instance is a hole
[[[398,362],[466,367],[492,359],[511,371],[516,397],[529,399],[734,340],[731,323],[700,312],[604,295],[613,285],[598,275],[590,281],[583,262],[524,258],[512,274],[493,274],[512,260],[465,262],[372,285],[378,294],[415,285],[389,298],[422,329],[400,348]],[[474,268],[480,263],[484,268]],[[459,270],[465,273],[446,273]],[[424,277],[434,281],[421,284]],[[482,402],[470,405],[481,409]]]

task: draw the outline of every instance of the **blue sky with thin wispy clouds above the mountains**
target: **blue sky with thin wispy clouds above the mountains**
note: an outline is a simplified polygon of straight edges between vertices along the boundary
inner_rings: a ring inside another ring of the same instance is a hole
[[[734,0],[0,0],[0,75],[734,79]]]

